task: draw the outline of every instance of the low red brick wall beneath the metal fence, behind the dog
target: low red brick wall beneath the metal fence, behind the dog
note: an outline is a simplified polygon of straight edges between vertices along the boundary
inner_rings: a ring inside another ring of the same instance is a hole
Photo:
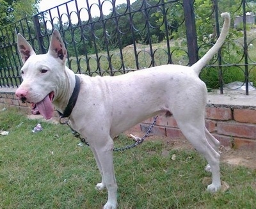
[[[0,104],[29,111],[29,104],[23,104],[17,100],[15,90],[15,88],[0,88]],[[149,118],[132,130],[146,132],[152,121],[153,118]],[[205,126],[225,146],[256,151],[256,107],[207,104]],[[184,139],[173,116],[168,118],[159,116],[152,134]]]

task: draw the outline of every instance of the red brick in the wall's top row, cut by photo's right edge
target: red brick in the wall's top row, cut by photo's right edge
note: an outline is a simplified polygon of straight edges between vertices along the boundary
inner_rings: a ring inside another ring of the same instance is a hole
[[[234,109],[234,120],[242,123],[256,123],[256,110]]]

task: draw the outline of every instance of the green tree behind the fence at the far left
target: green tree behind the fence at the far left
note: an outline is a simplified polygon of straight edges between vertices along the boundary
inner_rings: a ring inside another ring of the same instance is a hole
[[[16,52],[15,27],[12,23],[38,13],[39,2],[40,0],[0,0],[0,86],[15,86],[20,82],[20,79],[17,80],[19,60],[17,56],[12,56]]]

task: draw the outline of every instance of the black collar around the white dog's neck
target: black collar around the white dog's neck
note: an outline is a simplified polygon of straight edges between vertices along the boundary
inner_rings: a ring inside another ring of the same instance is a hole
[[[60,118],[67,118],[68,116],[70,116],[73,108],[76,105],[76,100],[77,100],[77,97],[78,97],[79,91],[80,91],[80,79],[77,75],[75,75],[75,76],[76,76],[76,86],[75,86],[74,91],[68,101],[67,107],[65,108],[63,114],[61,112],[57,111],[58,114],[60,115]]]

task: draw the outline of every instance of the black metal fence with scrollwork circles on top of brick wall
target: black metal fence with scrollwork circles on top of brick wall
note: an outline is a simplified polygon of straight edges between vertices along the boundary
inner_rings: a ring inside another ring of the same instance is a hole
[[[248,95],[256,82],[254,6],[246,0],[68,1],[0,29],[0,86],[17,87],[22,81],[17,33],[42,54],[57,28],[74,72],[119,75],[164,64],[192,65],[220,34],[220,13],[230,12],[227,42],[200,77],[209,89],[244,88]]]

